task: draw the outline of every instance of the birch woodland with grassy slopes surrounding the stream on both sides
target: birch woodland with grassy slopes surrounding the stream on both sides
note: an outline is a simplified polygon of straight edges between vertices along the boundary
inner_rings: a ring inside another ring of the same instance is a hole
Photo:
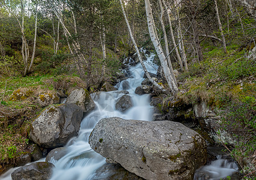
[[[27,128],[43,109],[40,94],[115,85],[123,59],[144,47],[163,67],[157,88],[222,112],[222,128],[237,138],[223,145],[253,178],[256,16],[248,2],[1,0],[0,169],[31,150]]]

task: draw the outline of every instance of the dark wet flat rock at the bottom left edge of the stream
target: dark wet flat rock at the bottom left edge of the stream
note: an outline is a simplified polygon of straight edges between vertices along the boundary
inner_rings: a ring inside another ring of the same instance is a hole
[[[12,180],[47,180],[52,176],[52,163],[37,162],[20,167],[11,173]]]

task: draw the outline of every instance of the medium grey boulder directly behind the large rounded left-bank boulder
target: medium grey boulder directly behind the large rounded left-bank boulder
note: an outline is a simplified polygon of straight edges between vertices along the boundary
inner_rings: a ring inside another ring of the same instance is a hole
[[[70,92],[66,103],[74,103],[78,105],[81,107],[83,112],[90,112],[96,107],[96,104],[91,99],[90,93],[86,89],[75,89],[74,91]]]

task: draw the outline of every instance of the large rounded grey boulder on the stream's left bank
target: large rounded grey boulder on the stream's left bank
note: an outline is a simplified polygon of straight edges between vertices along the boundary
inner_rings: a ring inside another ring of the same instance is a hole
[[[49,106],[29,127],[30,139],[43,148],[64,146],[77,136],[83,112],[76,104]]]

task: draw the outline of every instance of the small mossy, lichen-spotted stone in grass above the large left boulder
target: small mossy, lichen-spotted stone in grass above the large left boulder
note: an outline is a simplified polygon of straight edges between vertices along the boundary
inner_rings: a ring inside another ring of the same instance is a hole
[[[45,92],[43,94],[38,95],[37,103],[41,107],[49,106],[50,104],[58,104],[59,97],[56,92]]]

